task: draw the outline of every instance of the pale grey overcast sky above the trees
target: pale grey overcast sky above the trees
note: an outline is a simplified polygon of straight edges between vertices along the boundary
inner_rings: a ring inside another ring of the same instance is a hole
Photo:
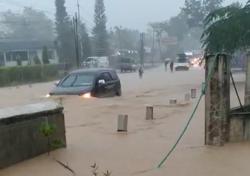
[[[145,30],[149,22],[163,21],[178,14],[185,0],[105,0],[108,26],[124,26]],[[93,27],[93,11],[95,0],[79,0],[81,16],[88,28]],[[226,0],[225,4],[236,2]],[[246,3],[247,0],[239,0]],[[24,6],[32,6],[43,10],[51,18],[54,17],[54,0],[0,0],[0,10],[20,10]],[[76,0],[66,0],[67,10],[73,14]]]

